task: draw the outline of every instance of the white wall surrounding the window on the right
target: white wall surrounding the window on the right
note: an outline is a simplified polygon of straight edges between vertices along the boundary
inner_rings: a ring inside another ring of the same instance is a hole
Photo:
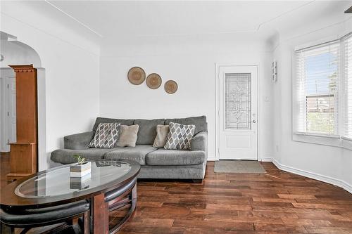
[[[330,22],[331,23],[331,22]],[[295,46],[314,41],[329,41],[351,32],[351,20],[331,26],[303,27],[301,32],[282,35],[274,52],[277,60],[278,82],[274,85],[274,159],[279,167],[322,181],[334,183],[352,191],[352,151],[303,143],[292,140],[292,53]],[[307,32],[309,29],[315,29]]]

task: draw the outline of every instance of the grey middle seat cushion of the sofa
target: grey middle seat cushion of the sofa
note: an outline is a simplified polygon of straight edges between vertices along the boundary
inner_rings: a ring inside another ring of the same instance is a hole
[[[146,155],[156,150],[151,145],[136,145],[135,147],[114,148],[104,155],[106,160],[133,160],[141,165],[146,164]]]

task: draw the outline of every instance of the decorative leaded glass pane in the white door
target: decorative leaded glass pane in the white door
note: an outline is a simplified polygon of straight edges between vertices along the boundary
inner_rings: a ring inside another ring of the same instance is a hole
[[[225,74],[225,129],[251,129],[251,74]]]

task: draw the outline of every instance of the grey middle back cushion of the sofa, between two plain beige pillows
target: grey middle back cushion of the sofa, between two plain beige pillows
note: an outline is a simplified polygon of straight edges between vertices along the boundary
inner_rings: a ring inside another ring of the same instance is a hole
[[[164,124],[165,119],[135,119],[139,125],[137,145],[153,145],[156,137],[156,125]]]

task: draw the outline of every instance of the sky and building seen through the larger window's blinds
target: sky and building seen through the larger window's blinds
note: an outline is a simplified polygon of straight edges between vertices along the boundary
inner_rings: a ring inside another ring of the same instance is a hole
[[[334,134],[339,53],[328,45],[310,51],[306,67],[307,131]]]

